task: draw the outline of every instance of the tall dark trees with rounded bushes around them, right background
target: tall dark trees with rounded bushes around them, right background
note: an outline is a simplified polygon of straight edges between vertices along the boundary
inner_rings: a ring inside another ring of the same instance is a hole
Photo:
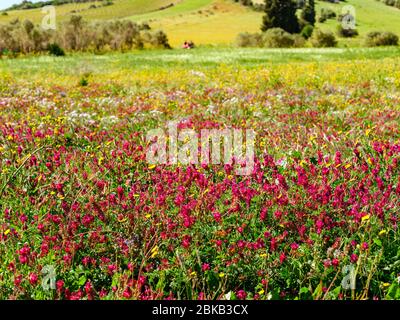
[[[325,0],[327,2],[338,2]],[[386,1],[386,0],[385,0]],[[399,0],[400,1],[400,0]],[[247,3],[247,2],[246,2]],[[247,4],[251,4],[248,2]],[[315,0],[265,0],[264,16],[261,25],[262,33],[241,33],[237,44],[242,47],[303,47],[310,42],[313,47],[334,47],[337,40],[333,32],[315,29]],[[336,17],[330,9],[321,9],[318,22]],[[350,12],[337,16],[337,35],[343,38],[356,37],[355,17]],[[343,23],[346,22],[346,23]],[[353,22],[353,23],[349,23]],[[398,45],[399,38],[392,32],[374,31],[365,37],[364,45],[389,46]]]

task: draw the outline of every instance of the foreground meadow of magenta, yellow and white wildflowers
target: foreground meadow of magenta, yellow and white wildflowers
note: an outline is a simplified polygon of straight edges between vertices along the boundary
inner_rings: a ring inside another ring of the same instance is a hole
[[[3,80],[0,298],[399,299],[396,65]],[[251,174],[150,165],[169,121],[254,130]]]

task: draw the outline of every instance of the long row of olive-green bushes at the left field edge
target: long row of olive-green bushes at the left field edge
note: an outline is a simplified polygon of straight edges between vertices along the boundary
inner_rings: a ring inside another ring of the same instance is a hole
[[[126,51],[150,47],[170,48],[167,35],[162,31],[150,32],[148,24],[136,24],[128,20],[88,22],[73,15],[69,21],[53,30],[43,30],[31,21],[18,19],[0,24],[0,51],[19,53],[48,52],[63,55],[66,52],[109,50]],[[60,48],[50,46],[59,44]]]

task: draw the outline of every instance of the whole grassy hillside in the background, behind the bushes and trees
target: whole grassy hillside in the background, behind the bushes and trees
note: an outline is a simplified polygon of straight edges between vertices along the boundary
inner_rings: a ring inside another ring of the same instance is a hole
[[[258,32],[262,18],[262,13],[231,0],[114,0],[112,6],[90,8],[92,4],[58,6],[58,21],[68,19],[73,13],[91,20],[129,18],[148,21],[153,28],[165,30],[171,44],[178,46],[185,39],[197,44],[231,44],[239,32]],[[172,7],[165,9],[171,4]],[[348,0],[341,4],[317,1],[317,12],[321,8],[331,8],[340,14],[344,5],[355,7],[360,36],[340,39],[340,46],[359,46],[372,30],[390,30],[400,35],[400,10],[376,0]],[[40,9],[10,11],[8,16],[0,16],[0,22],[17,17],[39,22],[43,14]],[[319,28],[331,31],[335,31],[337,25],[337,20],[317,24]]]

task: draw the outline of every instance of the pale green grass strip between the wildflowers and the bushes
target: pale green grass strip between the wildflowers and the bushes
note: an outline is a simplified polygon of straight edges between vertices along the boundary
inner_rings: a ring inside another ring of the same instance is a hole
[[[394,58],[400,48],[353,48],[353,49],[239,49],[199,48],[184,50],[146,50],[126,54],[105,55],[74,54],[66,57],[22,57],[0,60],[0,76],[24,79],[29,73],[31,81],[51,81],[52,76],[75,79],[83,72],[93,75],[113,75],[129,79],[135,70],[196,70],[200,67],[240,65],[240,67],[264,67],[269,64],[290,62],[361,61]],[[46,80],[43,80],[46,79]],[[76,79],[75,79],[76,80]]]

